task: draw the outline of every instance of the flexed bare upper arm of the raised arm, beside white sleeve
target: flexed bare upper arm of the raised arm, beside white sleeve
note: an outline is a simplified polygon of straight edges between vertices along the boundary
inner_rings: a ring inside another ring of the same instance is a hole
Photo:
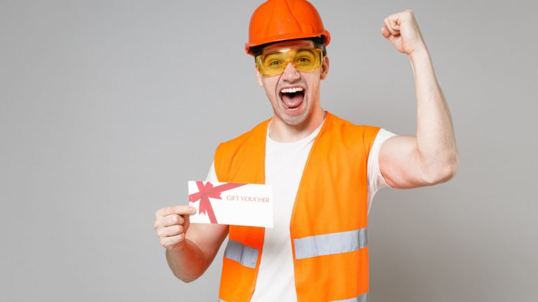
[[[393,136],[381,145],[379,168],[387,185],[410,189],[429,185],[414,136]]]

